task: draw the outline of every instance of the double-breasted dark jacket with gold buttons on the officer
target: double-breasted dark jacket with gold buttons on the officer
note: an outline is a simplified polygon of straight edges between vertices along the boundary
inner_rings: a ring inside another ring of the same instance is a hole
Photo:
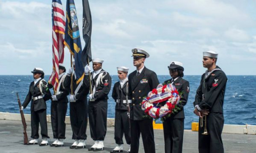
[[[133,71],[128,76],[128,80],[129,96],[132,98],[130,119],[148,119],[145,117],[145,112],[141,109],[141,102],[143,97],[147,97],[148,92],[152,91],[159,84],[156,73],[144,67],[138,76],[137,71]]]

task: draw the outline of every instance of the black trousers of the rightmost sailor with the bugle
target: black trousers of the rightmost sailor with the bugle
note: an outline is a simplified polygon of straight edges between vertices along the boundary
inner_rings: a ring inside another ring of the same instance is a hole
[[[207,115],[208,135],[203,135],[204,126],[199,126],[198,149],[199,153],[224,153],[221,133],[224,125],[223,113],[210,113]],[[200,119],[199,119],[200,123]]]

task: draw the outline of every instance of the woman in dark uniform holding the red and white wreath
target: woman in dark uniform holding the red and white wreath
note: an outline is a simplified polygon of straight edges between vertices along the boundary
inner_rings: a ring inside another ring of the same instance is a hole
[[[164,127],[164,150],[165,153],[182,153],[184,134],[184,109],[188,101],[189,82],[184,76],[184,67],[181,62],[173,61],[168,66],[171,79],[164,81],[164,84],[172,84],[180,95],[180,103],[177,104],[178,112],[163,118]]]

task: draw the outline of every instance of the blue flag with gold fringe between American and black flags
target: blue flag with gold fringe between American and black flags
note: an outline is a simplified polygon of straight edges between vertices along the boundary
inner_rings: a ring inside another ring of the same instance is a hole
[[[76,84],[84,79],[84,66],[82,64],[82,45],[80,40],[78,19],[74,0],[67,0],[65,42],[70,53],[75,58]]]

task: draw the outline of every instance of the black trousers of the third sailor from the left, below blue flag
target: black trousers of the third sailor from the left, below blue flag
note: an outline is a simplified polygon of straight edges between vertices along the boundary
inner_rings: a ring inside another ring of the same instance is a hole
[[[88,121],[87,99],[69,103],[70,123],[73,131],[72,139],[86,140],[86,128]]]

